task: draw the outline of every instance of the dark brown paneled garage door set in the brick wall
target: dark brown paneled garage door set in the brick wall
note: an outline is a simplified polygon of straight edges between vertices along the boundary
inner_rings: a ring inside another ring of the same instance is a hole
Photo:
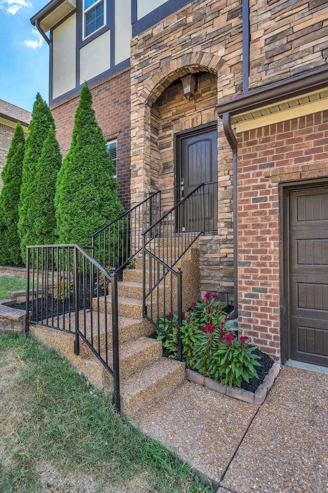
[[[290,355],[328,366],[328,188],[290,194]]]

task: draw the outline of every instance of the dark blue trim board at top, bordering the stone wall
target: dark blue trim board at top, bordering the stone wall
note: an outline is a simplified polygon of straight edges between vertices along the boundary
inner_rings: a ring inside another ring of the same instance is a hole
[[[142,2],[142,0],[131,0],[132,37],[137,36],[142,31],[154,26],[168,15],[186,7],[186,5],[191,3],[191,0],[168,0],[168,2],[160,5],[157,9],[154,9],[140,19],[137,19],[137,2]],[[133,19],[135,19],[135,21],[133,21]]]

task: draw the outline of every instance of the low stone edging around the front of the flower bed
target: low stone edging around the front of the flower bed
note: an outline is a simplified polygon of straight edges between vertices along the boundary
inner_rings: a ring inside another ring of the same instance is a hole
[[[215,392],[219,392],[223,395],[228,395],[239,401],[248,402],[261,406],[267,397],[269,390],[271,390],[273,383],[280,371],[280,364],[275,362],[270,368],[268,374],[264,377],[263,383],[258,386],[255,393],[249,390],[239,389],[238,387],[229,387],[229,385],[222,385],[219,382],[215,382],[212,378],[201,375],[197,371],[186,368],[186,380],[193,382],[194,384],[201,385]]]

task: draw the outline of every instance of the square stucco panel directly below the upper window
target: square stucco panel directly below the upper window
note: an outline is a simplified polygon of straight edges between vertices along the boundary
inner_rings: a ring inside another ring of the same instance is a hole
[[[80,49],[79,83],[89,81],[110,68],[110,30]]]

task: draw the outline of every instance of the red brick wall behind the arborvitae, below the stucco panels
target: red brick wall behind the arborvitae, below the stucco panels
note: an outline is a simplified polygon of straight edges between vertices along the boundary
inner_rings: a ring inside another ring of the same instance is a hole
[[[96,120],[106,140],[117,139],[118,198],[130,208],[130,70],[125,70],[90,88]],[[51,108],[63,157],[71,145],[75,110],[79,97]]]

